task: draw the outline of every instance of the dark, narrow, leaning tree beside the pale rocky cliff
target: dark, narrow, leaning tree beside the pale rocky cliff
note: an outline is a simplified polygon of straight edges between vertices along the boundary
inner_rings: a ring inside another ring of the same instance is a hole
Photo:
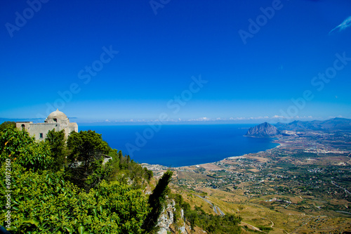
[[[159,219],[164,207],[166,193],[168,192],[168,183],[171,181],[172,174],[172,171],[166,171],[159,179],[157,186],[154,188],[149,197],[148,203],[151,207],[151,211],[147,215],[147,218],[143,224],[143,229],[145,229],[147,233],[152,233],[154,230],[156,230],[157,219]]]

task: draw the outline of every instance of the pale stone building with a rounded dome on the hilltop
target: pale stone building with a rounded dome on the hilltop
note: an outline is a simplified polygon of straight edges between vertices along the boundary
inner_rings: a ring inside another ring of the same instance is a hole
[[[26,129],[29,135],[34,136],[37,140],[43,141],[46,138],[48,131],[55,129],[55,131],[65,130],[66,138],[72,131],[78,132],[78,124],[70,123],[67,116],[55,110],[45,119],[44,123],[34,124],[33,122],[16,122],[16,128]]]

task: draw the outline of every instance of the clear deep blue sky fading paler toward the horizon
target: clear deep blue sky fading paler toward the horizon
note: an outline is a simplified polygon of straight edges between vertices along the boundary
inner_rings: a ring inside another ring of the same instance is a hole
[[[0,117],[351,118],[350,16],[349,0],[4,0]]]

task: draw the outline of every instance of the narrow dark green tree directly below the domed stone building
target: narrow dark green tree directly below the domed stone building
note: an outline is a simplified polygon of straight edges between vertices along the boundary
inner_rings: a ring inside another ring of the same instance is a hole
[[[65,130],[62,131],[48,131],[45,141],[51,147],[51,156],[53,157],[53,169],[58,171],[66,164],[66,143]]]

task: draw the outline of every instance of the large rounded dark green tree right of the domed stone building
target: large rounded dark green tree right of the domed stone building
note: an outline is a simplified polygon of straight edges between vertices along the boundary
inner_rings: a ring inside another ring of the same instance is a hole
[[[110,152],[110,147],[95,131],[72,132],[67,140],[69,178],[88,192],[109,175],[102,164],[103,155]]]

